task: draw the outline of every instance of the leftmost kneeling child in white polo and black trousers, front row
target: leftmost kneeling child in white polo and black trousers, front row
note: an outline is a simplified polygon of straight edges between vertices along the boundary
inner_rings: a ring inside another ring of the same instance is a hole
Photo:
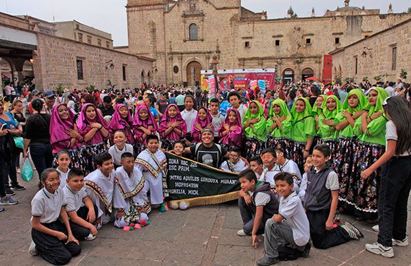
[[[58,171],[45,169],[41,173],[41,184],[44,187],[32,199],[33,241],[29,252],[34,256],[40,254],[48,263],[64,265],[72,256],[80,254],[82,247],[71,233]]]

